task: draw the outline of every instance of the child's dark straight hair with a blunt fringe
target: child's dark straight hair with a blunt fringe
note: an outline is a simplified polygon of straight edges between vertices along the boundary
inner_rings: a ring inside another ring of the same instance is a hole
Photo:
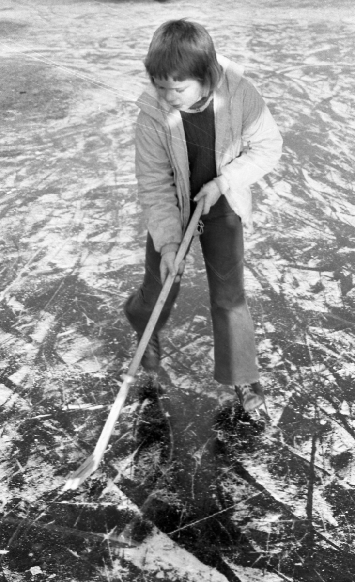
[[[196,79],[213,90],[221,78],[222,69],[209,33],[201,24],[185,19],[168,20],[159,26],[144,64],[152,83],[153,77]]]

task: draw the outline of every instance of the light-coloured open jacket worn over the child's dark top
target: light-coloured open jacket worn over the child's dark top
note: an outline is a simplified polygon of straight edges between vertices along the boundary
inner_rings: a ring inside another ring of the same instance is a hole
[[[216,168],[221,189],[242,222],[252,223],[250,184],[281,156],[282,138],[256,88],[240,65],[218,56],[223,68],[213,92]],[[159,252],[176,249],[190,215],[189,163],[180,112],[150,85],[137,101],[135,136],[138,197]]]

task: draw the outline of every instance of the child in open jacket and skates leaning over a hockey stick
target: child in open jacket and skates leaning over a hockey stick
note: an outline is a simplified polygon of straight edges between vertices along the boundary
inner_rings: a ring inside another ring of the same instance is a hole
[[[243,226],[251,221],[249,186],[270,172],[282,139],[242,68],[216,56],[200,24],[170,20],[153,34],[145,67],[151,85],[139,98],[138,196],[148,225],[145,276],[125,305],[142,336],[196,201],[203,198],[200,244],[209,283],[214,378],[234,385],[252,422],[264,403],[253,322],[243,288]],[[180,288],[181,265],[142,359],[156,370],[158,332]]]

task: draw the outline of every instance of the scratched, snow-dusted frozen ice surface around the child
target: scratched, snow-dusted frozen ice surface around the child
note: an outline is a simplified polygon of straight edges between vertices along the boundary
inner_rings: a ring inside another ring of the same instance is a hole
[[[63,500],[135,349],[123,314],[144,268],[134,102],[153,31],[183,16],[245,66],[284,136],[281,162],[253,188],[245,240],[271,420],[249,434],[233,388],[213,380],[193,244],[162,333],[161,407],[142,396],[139,370],[99,470]],[[352,581],[354,30],[346,0],[1,6],[6,579]],[[138,508],[155,525],[121,548]]]

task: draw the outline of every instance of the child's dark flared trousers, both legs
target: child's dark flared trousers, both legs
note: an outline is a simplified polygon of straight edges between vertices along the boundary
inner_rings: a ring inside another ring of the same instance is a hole
[[[243,285],[243,227],[224,196],[202,217],[200,235],[209,283],[214,338],[214,379],[221,384],[252,384],[259,380],[254,327]],[[142,333],[162,289],[160,253],[148,233],[144,281],[125,304],[132,327]],[[174,283],[156,325],[166,323],[177,299],[180,283]]]

